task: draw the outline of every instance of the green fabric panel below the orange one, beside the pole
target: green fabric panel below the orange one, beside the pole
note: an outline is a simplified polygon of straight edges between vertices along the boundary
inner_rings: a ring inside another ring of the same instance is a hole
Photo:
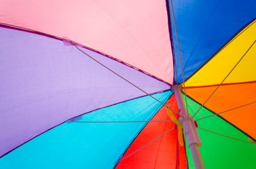
[[[183,95],[183,99],[184,95]],[[184,100],[185,102],[185,100]],[[200,105],[187,98],[188,112],[193,115]],[[196,114],[195,120],[201,117],[212,115],[212,112],[205,108]],[[226,136],[247,140],[247,136],[234,128],[220,117],[213,116],[197,121],[200,128],[208,129]],[[213,168],[256,168],[256,146],[255,144],[246,143],[232,138],[220,136],[208,131],[197,128],[202,146],[199,147],[204,166],[207,169]],[[187,145],[186,145],[187,146]],[[189,169],[195,168],[192,156],[187,146],[187,156]]]

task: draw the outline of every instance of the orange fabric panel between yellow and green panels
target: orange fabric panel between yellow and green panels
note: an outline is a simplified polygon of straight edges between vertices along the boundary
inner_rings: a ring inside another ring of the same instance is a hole
[[[186,92],[187,95],[191,96],[191,98],[203,104],[217,86],[218,84],[191,88],[186,87]],[[241,105],[255,102],[255,93],[255,81],[248,83],[224,84],[220,86],[213,96],[208,100],[205,107],[209,108],[215,113],[223,112]],[[234,109],[233,111],[221,113],[220,116],[224,117],[224,119],[228,120],[243,130],[243,132],[249,134],[251,137],[256,138],[256,130],[253,126],[256,121],[255,111],[256,103],[253,103],[246,105],[245,107]],[[198,113],[200,113],[200,111]],[[197,118],[195,116],[195,120],[196,119]]]

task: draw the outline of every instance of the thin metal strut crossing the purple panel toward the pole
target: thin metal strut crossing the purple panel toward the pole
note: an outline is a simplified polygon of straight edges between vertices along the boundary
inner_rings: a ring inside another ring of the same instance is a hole
[[[75,45],[75,47],[77,48],[77,46]],[[79,48],[77,48],[79,49]],[[142,92],[144,92],[146,95],[150,96],[152,99],[156,100],[157,102],[159,102],[160,104],[164,105],[165,107],[168,107],[166,104],[160,102],[158,99],[154,98],[153,96],[151,96],[150,94],[148,94],[146,91],[142,90],[141,88],[139,88],[138,86],[136,86],[135,84],[131,83],[130,81],[128,81],[127,79],[123,78],[121,75],[115,73],[113,70],[109,69],[109,67],[106,67],[105,65],[101,64],[101,62],[95,60],[93,57],[89,56],[89,54],[85,53],[84,51],[82,51],[81,49],[79,49],[82,53],[84,53],[86,56],[90,57],[92,60],[96,61],[98,64],[100,64],[101,66],[105,67],[106,69],[108,69],[109,71],[111,71],[112,73],[114,73],[115,75],[117,75],[118,77],[122,78],[123,80],[125,80],[126,82],[130,83],[131,85],[133,85],[134,87],[138,88],[139,90],[141,90]],[[170,107],[168,107],[170,108]],[[170,108],[171,109],[171,108]],[[173,109],[171,109],[171,111],[175,112],[177,115],[179,115],[179,113],[177,113],[176,111],[174,111]],[[180,115],[179,115],[180,116]]]

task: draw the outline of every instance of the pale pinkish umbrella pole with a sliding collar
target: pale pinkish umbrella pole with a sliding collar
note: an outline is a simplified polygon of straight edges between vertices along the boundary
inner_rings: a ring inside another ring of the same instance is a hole
[[[204,168],[203,160],[201,158],[201,154],[199,151],[199,146],[201,146],[201,141],[199,135],[196,130],[196,125],[191,115],[188,115],[187,109],[185,108],[185,104],[183,102],[181,96],[181,88],[179,85],[175,85],[172,87],[173,91],[175,92],[177,105],[180,108],[181,117],[179,121],[184,126],[184,132],[187,137],[188,147],[191,151],[191,155],[193,158],[193,162],[196,169]]]

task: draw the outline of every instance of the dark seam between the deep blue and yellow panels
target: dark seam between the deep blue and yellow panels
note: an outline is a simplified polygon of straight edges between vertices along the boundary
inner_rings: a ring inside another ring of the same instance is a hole
[[[256,18],[254,18],[253,20],[251,20],[249,23],[247,23],[245,26],[243,26],[241,29],[239,29],[232,37],[230,37],[230,39],[228,41],[226,41],[226,43],[224,45],[222,45],[220,47],[220,49],[218,49],[211,57],[208,58],[208,60],[206,60],[201,66],[199,66],[191,75],[189,75],[189,77],[187,79],[185,79],[185,82],[187,82],[193,75],[195,75],[200,69],[202,69],[206,64],[208,64],[208,62],[210,60],[212,60],[215,56],[217,56],[218,53],[221,52],[221,50],[223,50],[226,46],[228,46],[230,43],[232,43],[232,41],[234,39],[236,39],[236,36],[238,37],[239,35],[241,35],[242,32],[246,31],[247,28],[249,28],[250,24],[255,22]],[[252,25],[252,24],[251,24]],[[249,26],[249,27],[248,27]],[[247,27],[247,28],[246,28]],[[246,28],[246,29],[245,29]],[[182,84],[183,82],[179,83]]]

